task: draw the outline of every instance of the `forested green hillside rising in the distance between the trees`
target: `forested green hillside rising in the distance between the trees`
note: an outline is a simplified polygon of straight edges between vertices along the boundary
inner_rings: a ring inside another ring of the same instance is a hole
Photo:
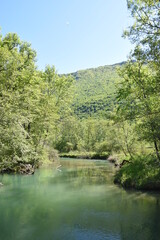
[[[109,114],[115,105],[117,68],[124,62],[71,73],[76,80],[74,111],[79,117]]]

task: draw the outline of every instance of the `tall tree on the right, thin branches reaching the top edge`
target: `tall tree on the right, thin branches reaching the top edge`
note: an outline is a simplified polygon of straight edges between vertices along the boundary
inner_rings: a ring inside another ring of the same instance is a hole
[[[128,0],[135,23],[125,31],[136,47],[122,71],[118,112],[134,120],[140,138],[154,144],[160,162],[160,2]]]

